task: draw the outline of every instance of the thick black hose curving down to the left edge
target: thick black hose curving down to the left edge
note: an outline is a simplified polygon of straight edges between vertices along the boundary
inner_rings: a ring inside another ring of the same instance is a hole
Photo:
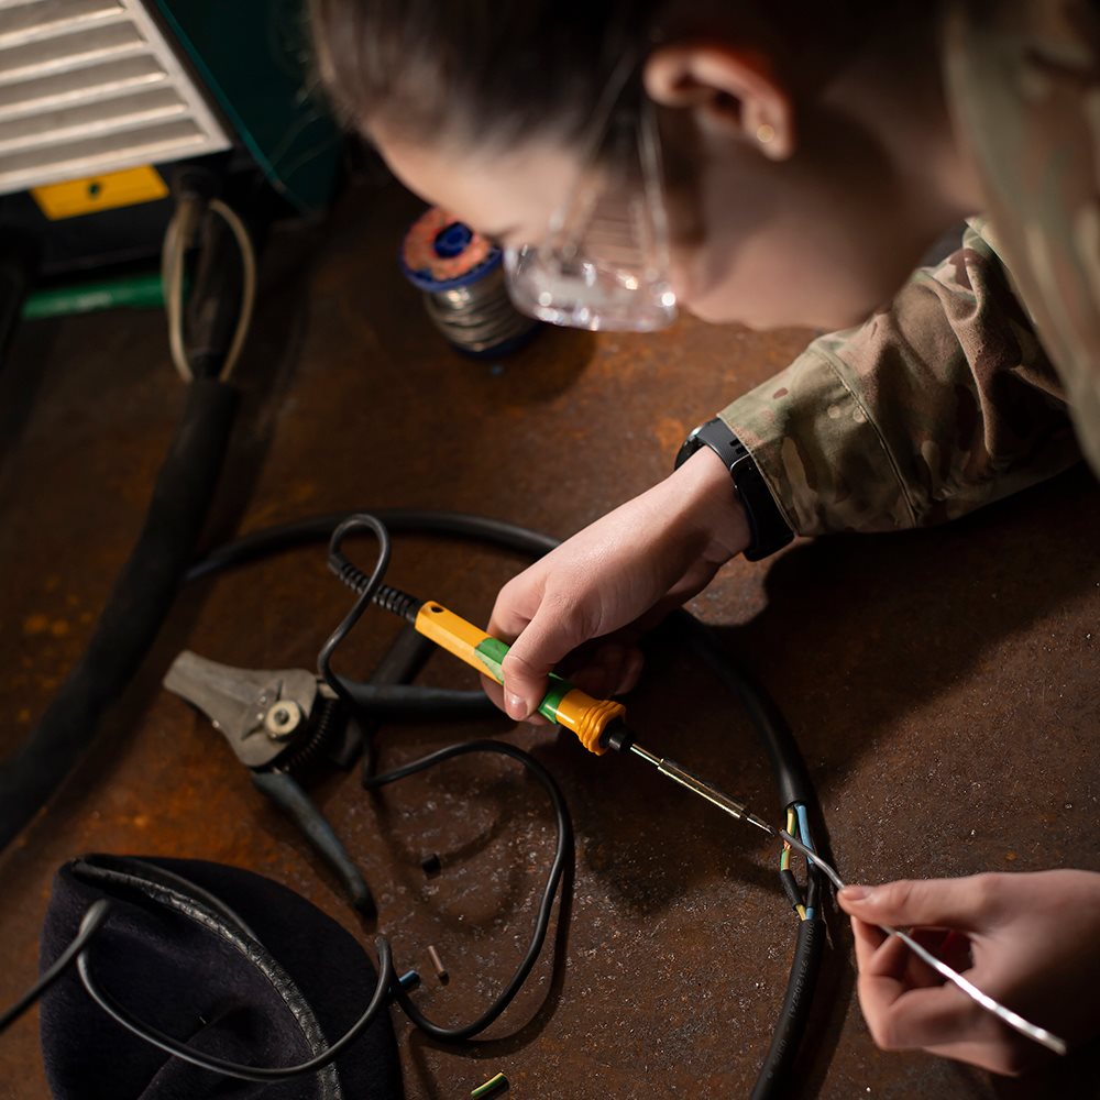
[[[141,535],[88,648],[23,745],[0,763],[0,850],[88,748],[102,712],[153,644],[206,522],[237,410],[237,391],[197,378],[157,475]]]

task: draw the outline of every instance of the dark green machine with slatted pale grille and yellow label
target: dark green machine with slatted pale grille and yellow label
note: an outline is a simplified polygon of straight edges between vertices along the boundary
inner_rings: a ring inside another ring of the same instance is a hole
[[[0,317],[160,301],[183,170],[262,237],[330,204],[341,131],[305,0],[0,7]]]

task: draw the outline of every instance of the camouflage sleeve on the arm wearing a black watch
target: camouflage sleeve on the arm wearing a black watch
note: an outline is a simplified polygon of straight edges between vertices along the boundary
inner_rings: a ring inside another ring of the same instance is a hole
[[[1079,458],[1062,384],[980,223],[891,307],[724,409],[800,535],[954,519]]]

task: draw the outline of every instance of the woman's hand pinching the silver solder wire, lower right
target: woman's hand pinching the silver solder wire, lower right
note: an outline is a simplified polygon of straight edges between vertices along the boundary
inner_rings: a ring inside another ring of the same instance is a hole
[[[859,1003],[886,1050],[921,1048],[997,1074],[1048,1050],[945,982],[876,925],[945,930],[938,950],[980,990],[1067,1042],[1100,1034],[1100,875],[1057,870],[846,887]]]

